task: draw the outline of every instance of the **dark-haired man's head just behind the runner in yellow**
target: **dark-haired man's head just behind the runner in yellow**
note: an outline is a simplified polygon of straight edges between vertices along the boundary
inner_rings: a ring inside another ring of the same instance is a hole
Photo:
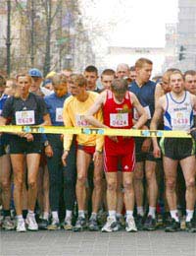
[[[84,78],[87,81],[87,90],[94,91],[98,79],[98,70],[95,66],[88,66],[84,70]]]

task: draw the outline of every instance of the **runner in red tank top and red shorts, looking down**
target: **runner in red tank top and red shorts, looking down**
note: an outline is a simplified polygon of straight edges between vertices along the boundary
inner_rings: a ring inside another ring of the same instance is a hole
[[[132,108],[135,107],[140,115],[133,127]],[[103,109],[104,123],[93,117],[100,108]],[[127,82],[123,79],[113,81],[111,91],[104,91],[98,96],[94,105],[85,115],[85,119],[101,128],[131,129],[140,128],[147,120],[145,110],[136,96],[127,92]],[[117,172],[118,163],[122,164],[124,204],[126,208],[126,231],[136,231],[133,219],[134,191],[132,186],[133,169],[135,162],[134,140],[123,136],[106,136],[104,145],[104,169],[107,179],[107,203],[109,217],[102,231],[115,231],[118,229],[116,220],[117,208]]]

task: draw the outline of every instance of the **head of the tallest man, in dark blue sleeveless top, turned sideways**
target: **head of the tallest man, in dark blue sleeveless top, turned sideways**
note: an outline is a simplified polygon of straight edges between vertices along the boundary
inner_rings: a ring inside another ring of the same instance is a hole
[[[136,80],[145,84],[150,80],[153,70],[153,62],[146,58],[140,58],[135,62]]]

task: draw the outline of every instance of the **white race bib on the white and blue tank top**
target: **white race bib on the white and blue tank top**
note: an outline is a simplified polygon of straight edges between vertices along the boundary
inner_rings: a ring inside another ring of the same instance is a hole
[[[186,112],[174,111],[172,113],[172,129],[181,130],[190,127],[190,115]]]

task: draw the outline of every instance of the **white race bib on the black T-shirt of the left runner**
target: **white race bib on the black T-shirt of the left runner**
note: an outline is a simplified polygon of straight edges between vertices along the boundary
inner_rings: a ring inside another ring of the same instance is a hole
[[[34,124],[34,110],[17,111],[15,117],[17,125]]]

